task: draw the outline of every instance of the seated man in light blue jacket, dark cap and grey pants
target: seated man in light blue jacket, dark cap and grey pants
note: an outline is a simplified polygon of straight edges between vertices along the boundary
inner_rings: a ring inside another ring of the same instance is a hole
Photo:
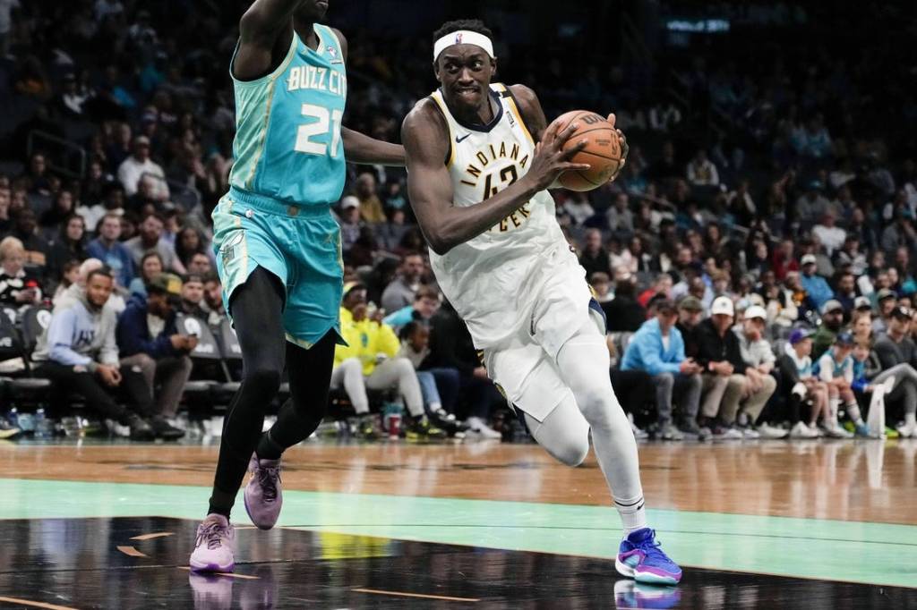
[[[697,409],[701,399],[701,367],[685,357],[681,332],[675,328],[678,310],[670,300],[657,304],[657,315],[647,320],[627,343],[621,370],[646,371],[656,385],[658,409],[658,438],[680,441],[685,434],[702,438],[697,425]],[[673,423],[672,401],[679,397],[681,418]]]

